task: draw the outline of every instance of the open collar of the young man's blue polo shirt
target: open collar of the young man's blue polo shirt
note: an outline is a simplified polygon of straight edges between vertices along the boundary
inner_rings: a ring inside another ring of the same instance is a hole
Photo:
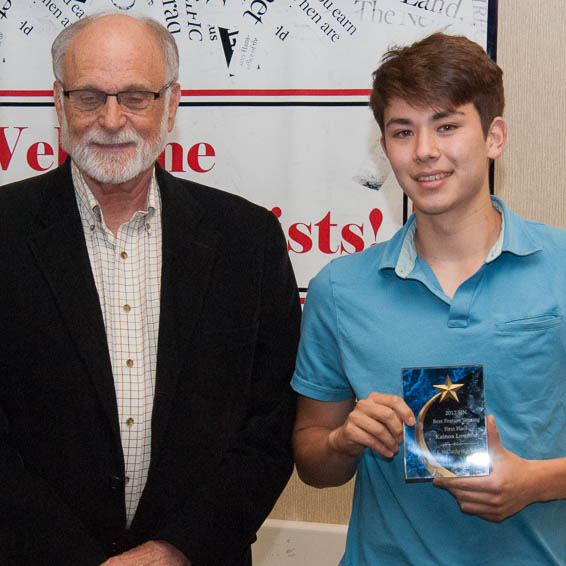
[[[520,216],[507,208],[507,205],[497,197],[492,196],[491,202],[493,208],[501,214],[501,232],[487,254],[485,263],[495,261],[503,252],[527,256],[542,250],[541,242],[526,230],[525,221]],[[386,242],[379,269],[395,269],[396,275],[402,279],[409,276],[415,267],[418,255],[415,247],[416,230],[417,221],[412,214],[405,226]]]

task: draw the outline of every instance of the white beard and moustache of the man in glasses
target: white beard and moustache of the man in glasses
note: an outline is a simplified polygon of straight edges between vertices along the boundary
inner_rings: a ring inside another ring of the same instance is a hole
[[[146,171],[155,163],[165,148],[168,125],[169,93],[165,96],[165,108],[157,135],[144,140],[133,128],[110,133],[101,129],[88,130],[82,137],[69,132],[65,112],[61,122],[61,146],[71,156],[77,167],[99,183],[117,185],[125,183]],[[135,144],[125,155],[116,155],[90,144]]]

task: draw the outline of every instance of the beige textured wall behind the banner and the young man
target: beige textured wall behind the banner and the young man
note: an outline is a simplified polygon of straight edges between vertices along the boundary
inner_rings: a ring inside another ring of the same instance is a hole
[[[509,137],[495,192],[519,214],[566,227],[566,0],[499,0],[498,63]],[[317,490],[293,475],[274,519],[347,523],[353,482]]]

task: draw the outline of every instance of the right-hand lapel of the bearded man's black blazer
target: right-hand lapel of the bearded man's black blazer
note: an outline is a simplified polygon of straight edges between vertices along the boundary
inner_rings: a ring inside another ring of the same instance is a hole
[[[162,199],[163,263],[157,353],[157,377],[152,415],[152,460],[167,427],[179,370],[186,360],[202,307],[219,234],[201,222],[202,205],[186,185],[159,167]]]

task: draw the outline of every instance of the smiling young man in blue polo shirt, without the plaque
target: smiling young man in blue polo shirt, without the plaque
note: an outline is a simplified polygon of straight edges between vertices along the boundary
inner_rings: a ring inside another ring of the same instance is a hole
[[[434,34],[386,54],[370,105],[415,214],[311,282],[299,474],[326,487],[357,472],[342,565],[566,564],[566,232],[490,197],[502,72]],[[406,483],[401,369],[462,364],[484,367],[492,471]]]

